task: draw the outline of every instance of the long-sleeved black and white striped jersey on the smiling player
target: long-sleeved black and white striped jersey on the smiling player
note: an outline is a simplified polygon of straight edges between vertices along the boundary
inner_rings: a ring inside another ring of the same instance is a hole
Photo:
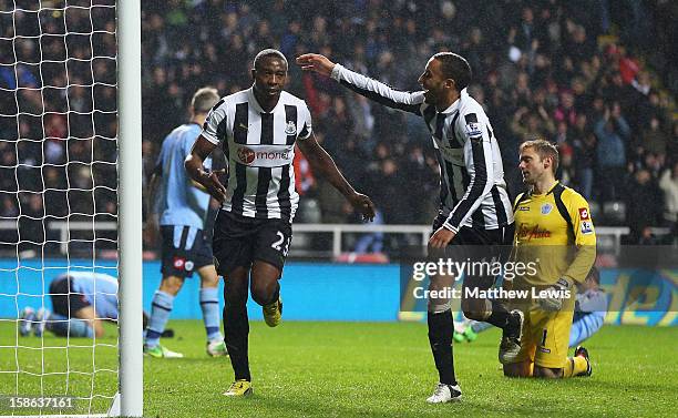
[[[424,92],[393,90],[377,80],[336,64],[332,79],[389,108],[424,119],[440,164],[440,208],[443,226],[495,230],[513,223],[502,155],[483,108],[462,90],[442,112],[424,102]]]

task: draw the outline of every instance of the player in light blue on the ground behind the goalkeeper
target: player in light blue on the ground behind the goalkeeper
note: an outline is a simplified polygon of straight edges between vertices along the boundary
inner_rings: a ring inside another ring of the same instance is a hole
[[[600,274],[593,267],[584,283],[577,283],[577,300],[569,330],[569,347],[576,347],[603,327],[607,314],[607,296],[600,288]],[[454,340],[473,343],[477,335],[492,326],[464,318],[454,322]]]

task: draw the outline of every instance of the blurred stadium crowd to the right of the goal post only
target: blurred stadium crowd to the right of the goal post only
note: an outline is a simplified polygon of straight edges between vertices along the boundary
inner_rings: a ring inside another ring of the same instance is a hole
[[[672,102],[644,64],[649,54],[630,52],[649,48],[653,30],[666,23],[657,22],[659,10],[638,6],[624,14],[603,1],[171,3],[144,10],[148,151],[183,118],[196,88],[212,84],[223,94],[247,88],[250,80],[243,74],[263,48],[279,48],[288,59],[320,52],[403,90],[419,88],[413,82],[430,55],[451,50],[475,72],[469,90],[485,104],[497,132],[513,193],[522,186],[518,143],[543,136],[559,145],[565,184],[596,207],[625,204],[626,218],[608,217],[608,223],[635,224],[636,232],[676,222]],[[386,223],[430,222],[438,167],[429,134],[414,118],[301,74],[294,64],[288,89],[306,99],[319,140],[374,197]],[[300,188],[318,200],[323,222],[346,222],[349,208],[341,197],[304,181],[312,173],[298,173]]]

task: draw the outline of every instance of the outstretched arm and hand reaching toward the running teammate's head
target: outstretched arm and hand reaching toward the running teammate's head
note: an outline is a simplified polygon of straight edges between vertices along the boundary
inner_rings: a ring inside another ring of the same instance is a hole
[[[341,85],[380,104],[421,115],[421,105],[424,102],[423,91],[412,93],[391,89],[380,81],[351,71],[318,53],[305,53],[298,57],[297,64],[305,71],[315,71],[318,74],[331,77]]]

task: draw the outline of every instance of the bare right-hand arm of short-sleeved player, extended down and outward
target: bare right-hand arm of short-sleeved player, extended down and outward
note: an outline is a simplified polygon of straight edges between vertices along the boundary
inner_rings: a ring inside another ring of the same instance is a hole
[[[316,141],[315,135],[311,134],[309,139],[299,141],[297,144],[315,173],[325,176],[351,203],[353,208],[362,214],[363,220],[372,221],[374,218],[374,204],[370,197],[356,192],[339,172],[332,157]]]

